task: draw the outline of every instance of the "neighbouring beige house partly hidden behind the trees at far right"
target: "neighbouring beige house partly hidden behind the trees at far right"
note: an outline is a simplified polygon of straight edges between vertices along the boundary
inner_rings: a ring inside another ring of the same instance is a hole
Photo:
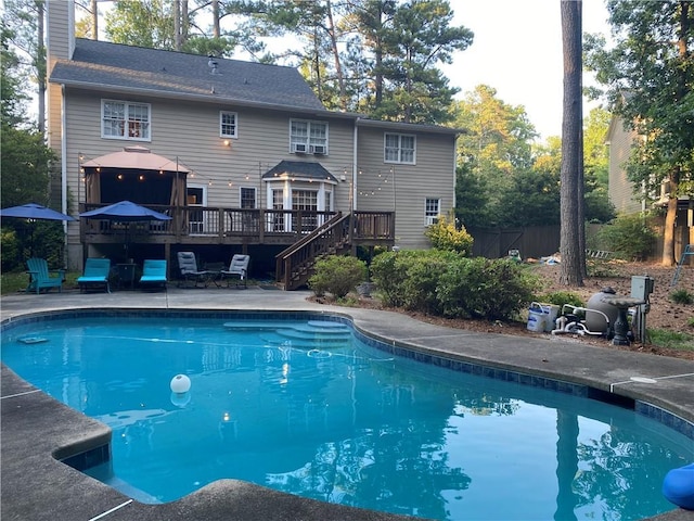
[[[619,214],[629,215],[667,206],[668,183],[664,182],[659,193],[646,194],[640,198],[634,191],[633,183],[627,177],[626,163],[631,154],[631,148],[638,139],[642,139],[635,131],[625,128],[624,120],[614,116],[609,122],[606,142],[609,145],[608,189],[609,201]],[[694,195],[694,194],[692,194]],[[677,218],[674,224],[674,256],[679,259],[686,244],[694,244],[694,198],[681,195],[678,199]],[[663,219],[663,223],[664,219]],[[658,236],[658,252],[663,251],[663,233]],[[660,255],[657,255],[659,257]]]

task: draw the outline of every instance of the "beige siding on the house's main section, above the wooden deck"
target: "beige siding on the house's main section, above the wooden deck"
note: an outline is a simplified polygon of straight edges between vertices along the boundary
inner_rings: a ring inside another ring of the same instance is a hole
[[[103,139],[102,99],[150,103],[151,140]],[[290,152],[290,119],[299,114],[232,105],[172,103],[141,97],[102,97],[97,92],[75,89],[68,89],[67,100],[66,173],[68,189],[76,202],[85,202],[85,189],[78,175],[80,155],[88,161],[120,151],[127,145],[140,144],[153,153],[179,161],[193,170],[188,182],[206,187],[209,206],[239,207],[240,188],[247,187],[257,189],[259,205],[266,207],[265,182],[260,177],[280,161],[286,160],[319,162],[337,179],[337,183],[331,188],[334,209],[350,209],[352,124],[348,119],[317,119],[329,124],[329,154],[312,156]],[[229,140],[229,147],[219,137],[220,111],[237,113],[237,138]],[[56,117],[60,122],[60,111]],[[60,143],[55,144],[60,152]],[[316,185],[305,183],[303,188],[313,189]],[[76,205],[70,211],[76,212]],[[70,239],[78,243],[77,226],[70,230]]]

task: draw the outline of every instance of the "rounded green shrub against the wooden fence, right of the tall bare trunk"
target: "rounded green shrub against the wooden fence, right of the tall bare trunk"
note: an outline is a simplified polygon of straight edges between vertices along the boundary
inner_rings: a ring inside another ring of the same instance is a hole
[[[597,240],[627,260],[640,259],[653,251],[655,232],[641,215],[620,215],[604,226]]]

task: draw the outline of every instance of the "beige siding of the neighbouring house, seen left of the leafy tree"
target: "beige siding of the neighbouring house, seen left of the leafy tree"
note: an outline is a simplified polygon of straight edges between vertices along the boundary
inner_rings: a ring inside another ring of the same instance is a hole
[[[607,194],[609,201],[620,214],[641,211],[641,202],[634,199],[633,186],[627,179],[625,164],[631,153],[635,135],[625,130],[621,120],[615,119],[609,126],[609,181]]]

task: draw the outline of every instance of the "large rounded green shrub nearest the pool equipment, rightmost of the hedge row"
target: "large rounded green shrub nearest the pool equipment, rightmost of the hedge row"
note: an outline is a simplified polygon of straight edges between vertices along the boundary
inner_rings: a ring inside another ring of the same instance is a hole
[[[532,301],[537,284],[537,276],[509,259],[459,258],[437,295],[446,316],[509,320]]]

